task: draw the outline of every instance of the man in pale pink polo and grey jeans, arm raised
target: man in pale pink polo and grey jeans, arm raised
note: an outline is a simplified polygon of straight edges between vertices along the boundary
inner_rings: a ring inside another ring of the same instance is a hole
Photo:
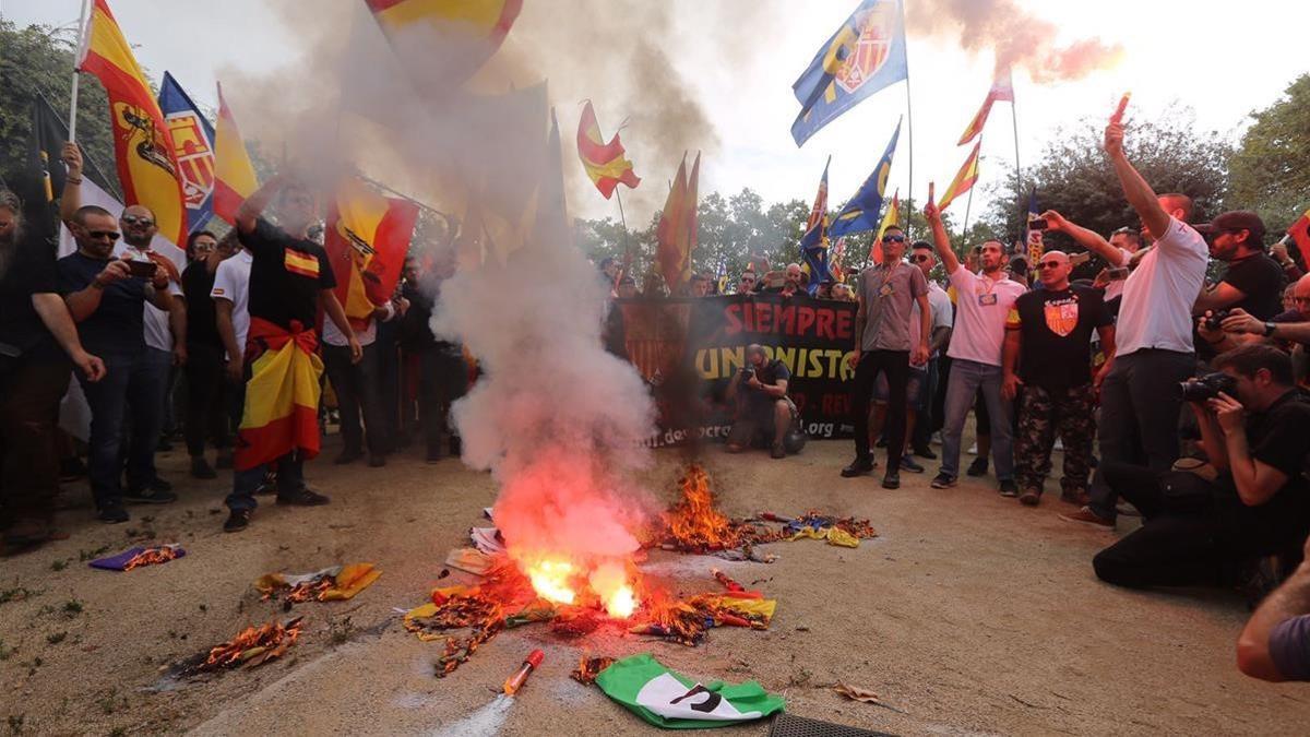
[[[975,395],[982,391],[992,425],[992,460],[1003,496],[1019,496],[1014,483],[1014,425],[1010,403],[1001,397],[1001,346],[1005,342],[1005,320],[1014,300],[1027,291],[1005,275],[1005,247],[994,240],[982,244],[980,274],[960,265],[951,249],[951,240],[942,224],[942,212],[929,195],[924,209],[933,228],[933,243],[942,258],[946,275],[955,287],[955,329],[946,355],[951,374],[946,386],[945,425],[942,428],[942,469],[933,479],[934,489],[947,489],[960,475],[960,435],[964,418],[973,407]]]

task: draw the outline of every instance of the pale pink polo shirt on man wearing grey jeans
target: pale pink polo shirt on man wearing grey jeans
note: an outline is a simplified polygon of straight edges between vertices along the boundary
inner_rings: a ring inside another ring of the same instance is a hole
[[[1001,366],[1005,320],[1014,300],[1027,291],[1019,282],[998,271],[993,279],[960,266],[950,275],[955,287],[955,329],[946,355]]]

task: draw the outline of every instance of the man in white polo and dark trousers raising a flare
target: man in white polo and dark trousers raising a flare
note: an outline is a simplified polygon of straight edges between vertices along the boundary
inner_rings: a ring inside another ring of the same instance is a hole
[[[1124,126],[1106,127],[1110,156],[1128,203],[1154,239],[1137,261],[1119,307],[1115,365],[1100,386],[1100,466],[1093,479],[1091,504],[1061,514],[1069,522],[1115,527],[1116,494],[1100,469],[1106,463],[1138,463],[1169,471],[1178,460],[1180,382],[1196,372],[1192,304],[1205,283],[1209,248],[1187,224],[1192,199],[1155,195],[1124,155]]]

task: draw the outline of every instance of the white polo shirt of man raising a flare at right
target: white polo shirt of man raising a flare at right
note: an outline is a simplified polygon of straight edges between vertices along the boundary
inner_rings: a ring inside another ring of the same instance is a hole
[[[1142,256],[1124,283],[1115,325],[1117,355],[1142,349],[1192,353],[1192,304],[1205,283],[1210,252],[1187,223],[1169,219],[1169,228]]]

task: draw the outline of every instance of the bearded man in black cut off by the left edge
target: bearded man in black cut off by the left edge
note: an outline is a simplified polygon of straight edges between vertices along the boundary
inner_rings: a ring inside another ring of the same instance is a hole
[[[18,199],[0,190],[0,548],[7,553],[54,534],[55,418],[68,388],[68,359],[88,382],[105,375],[59,298],[54,248],[29,237],[21,220]]]

